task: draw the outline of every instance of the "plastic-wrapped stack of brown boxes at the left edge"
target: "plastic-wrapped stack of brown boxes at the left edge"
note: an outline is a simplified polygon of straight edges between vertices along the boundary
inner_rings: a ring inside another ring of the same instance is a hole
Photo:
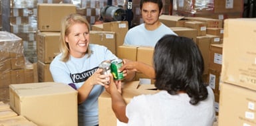
[[[0,99],[9,99],[9,84],[37,82],[33,65],[25,64],[23,40],[11,32],[0,31]],[[29,78],[27,78],[29,77]]]

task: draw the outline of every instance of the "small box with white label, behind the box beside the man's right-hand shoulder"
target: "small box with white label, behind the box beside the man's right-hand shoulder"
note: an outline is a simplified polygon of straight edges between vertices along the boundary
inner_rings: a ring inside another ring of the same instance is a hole
[[[200,21],[187,21],[185,27],[196,29],[197,36],[205,36],[206,34],[206,23]]]

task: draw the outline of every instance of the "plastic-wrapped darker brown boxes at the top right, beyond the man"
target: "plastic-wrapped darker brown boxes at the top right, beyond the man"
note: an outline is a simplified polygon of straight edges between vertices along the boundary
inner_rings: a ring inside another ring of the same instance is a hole
[[[237,18],[243,15],[243,4],[240,0],[177,0],[173,15],[221,20]]]

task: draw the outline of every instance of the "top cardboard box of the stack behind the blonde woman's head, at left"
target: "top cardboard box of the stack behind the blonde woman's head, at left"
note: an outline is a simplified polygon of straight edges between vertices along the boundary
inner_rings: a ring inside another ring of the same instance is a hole
[[[37,5],[37,29],[39,31],[61,31],[61,21],[76,6],[69,3],[39,3]]]

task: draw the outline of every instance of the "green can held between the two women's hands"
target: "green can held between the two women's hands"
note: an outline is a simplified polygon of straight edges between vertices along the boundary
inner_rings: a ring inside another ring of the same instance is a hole
[[[114,76],[114,80],[123,80],[124,79],[123,73],[118,72],[119,68],[122,67],[122,64],[123,64],[123,62],[120,58],[111,61],[110,69],[111,69],[112,75]]]

